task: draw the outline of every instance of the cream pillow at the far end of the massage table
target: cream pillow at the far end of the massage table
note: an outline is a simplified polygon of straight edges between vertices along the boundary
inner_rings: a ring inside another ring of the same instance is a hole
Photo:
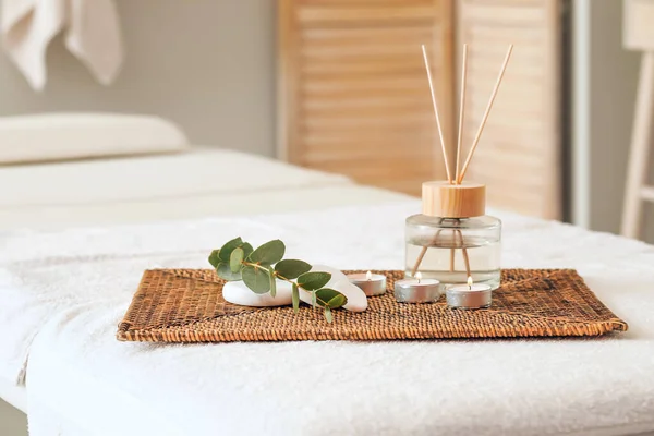
[[[0,165],[180,152],[186,135],[170,121],[117,113],[0,117]]]

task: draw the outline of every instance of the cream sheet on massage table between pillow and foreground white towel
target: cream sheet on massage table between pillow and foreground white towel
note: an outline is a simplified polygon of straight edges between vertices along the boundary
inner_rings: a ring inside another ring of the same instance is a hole
[[[218,148],[0,168],[0,229],[149,222],[405,198],[354,185],[340,174]]]

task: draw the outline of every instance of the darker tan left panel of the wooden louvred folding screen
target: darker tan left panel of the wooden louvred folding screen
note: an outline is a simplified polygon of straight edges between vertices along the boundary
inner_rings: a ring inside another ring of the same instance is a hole
[[[450,124],[451,1],[278,5],[280,157],[413,194],[443,178],[421,44]]]

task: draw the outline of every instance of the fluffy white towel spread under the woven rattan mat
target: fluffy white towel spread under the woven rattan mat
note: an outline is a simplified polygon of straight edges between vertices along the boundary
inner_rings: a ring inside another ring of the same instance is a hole
[[[34,435],[66,425],[125,435],[654,429],[654,247],[512,215],[502,216],[505,267],[578,268],[630,330],[472,342],[162,346],[113,338],[146,267],[204,267],[216,241],[242,234],[255,243],[281,238],[289,254],[341,268],[401,268],[403,219],[419,207],[4,234],[5,289],[41,317],[2,319],[14,335],[0,337],[0,350],[29,354],[28,395],[41,405],[29,411],[43,429]],[[31,350],[12,340],[36,332]],[[23,362],[7,358],[0,361],[13,362],[8,370],[17,375]],[[39,410],[56,413],[38,421]]]

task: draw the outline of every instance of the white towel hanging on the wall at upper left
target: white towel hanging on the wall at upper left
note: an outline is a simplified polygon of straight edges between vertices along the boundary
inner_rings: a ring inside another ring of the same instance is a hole
[[[2,0],[4,48],[29,85],[46,85],[46,52],[68,28],[65,46],[104,85],[117,76],[123,60],[113,0]]]

